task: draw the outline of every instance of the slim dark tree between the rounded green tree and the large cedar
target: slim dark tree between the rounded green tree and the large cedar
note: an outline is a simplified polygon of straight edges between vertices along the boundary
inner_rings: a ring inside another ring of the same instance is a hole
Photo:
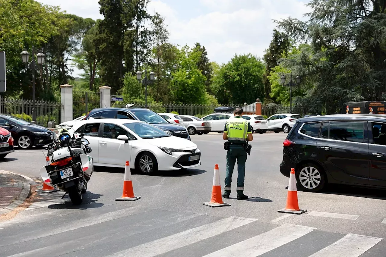
[[[278,30],[273,30],[273,38],[271,43],[269,44],[269,48],[266,50],[264,54],[264,62],[266,64],[266,70],[263,74],[263,82],[264,82],[264,102],[269,101],[270,93],[271,93],[271,83],[267,78],[272,71],[272,68],[279,64],[279,60],[286,56],[288,49],[290,47],[290,41],[287,34],[283,32],[279,32]]]

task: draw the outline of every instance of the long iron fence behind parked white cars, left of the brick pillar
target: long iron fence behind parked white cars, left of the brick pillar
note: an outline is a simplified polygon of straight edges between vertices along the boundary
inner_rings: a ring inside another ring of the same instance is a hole
[[[205,115],[208,115],[210,113],[214,112],[214,109],[217,107],[236,107],[236,106],[242,106],[244,109],[244,113],[255,113],[256,112],[256,105],[194,105],[194,104],[160,104],[160,103],[149,103],[147,105],[147,108],[152,110],[153,112],[166,112],[166,113],[178,113],[179,115],[193,115],[196,117],[204,117]],[[112,104],[112,107],[125,107],[125,104],[123,103],[114,103]],[[139,108],[146,108],[143,103],[135,103],[133,107],[139,107]]]

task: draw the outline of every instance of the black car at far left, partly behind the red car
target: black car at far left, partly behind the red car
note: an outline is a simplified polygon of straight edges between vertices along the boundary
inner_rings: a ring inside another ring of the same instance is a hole
[[[32,146],[42,148],[51,144],[55,136],[48,128],[32,124],[12,115],[0,114],[0,127],[11,132],[15,145],[22,149],[30,149]]]

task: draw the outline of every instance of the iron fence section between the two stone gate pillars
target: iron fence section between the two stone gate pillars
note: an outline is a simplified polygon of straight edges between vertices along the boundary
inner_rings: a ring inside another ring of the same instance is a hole
[[[73,118],[86,115],[100,107],[100,93],[94,91],[73,91]]]

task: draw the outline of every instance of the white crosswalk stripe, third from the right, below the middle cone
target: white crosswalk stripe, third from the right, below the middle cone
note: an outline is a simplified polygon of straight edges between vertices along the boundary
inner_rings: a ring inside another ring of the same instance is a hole
[[[192,228],[180,233],[176,233],[174,235],[170,235],[168,237],[154,240],[153,242],[144,243],[142,245],[138,245],[136,247],[117,252],[110,256],[153,257],[159,254],[164,254],[171,250],[184,247],[186,245],[199,242],[210,237],[214,237],[215,235],[228,232],[229,230],[247,225],[251,222],[251,220],[224,218],[213,223],[202,225],[200,227]]]

